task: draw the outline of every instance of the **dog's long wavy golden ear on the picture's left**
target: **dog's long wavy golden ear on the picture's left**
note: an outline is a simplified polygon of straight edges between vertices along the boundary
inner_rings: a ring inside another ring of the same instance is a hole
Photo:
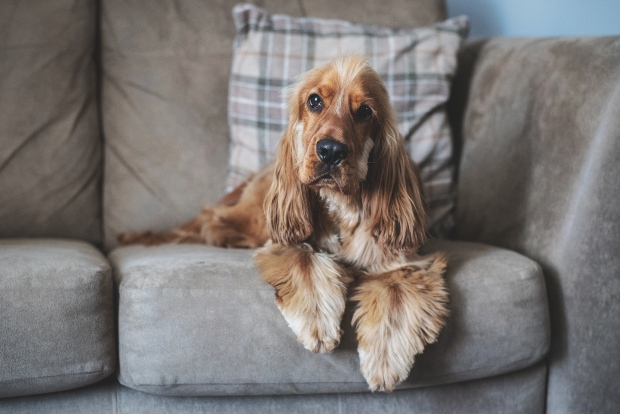
[[[275,243],[299,243],[312,234],[313,197],[298,178],[295,153],[295,127],[300,108],[298,88],[291,92],[289,123],[278,145],[274,180],[265,198],[265,215]]]

